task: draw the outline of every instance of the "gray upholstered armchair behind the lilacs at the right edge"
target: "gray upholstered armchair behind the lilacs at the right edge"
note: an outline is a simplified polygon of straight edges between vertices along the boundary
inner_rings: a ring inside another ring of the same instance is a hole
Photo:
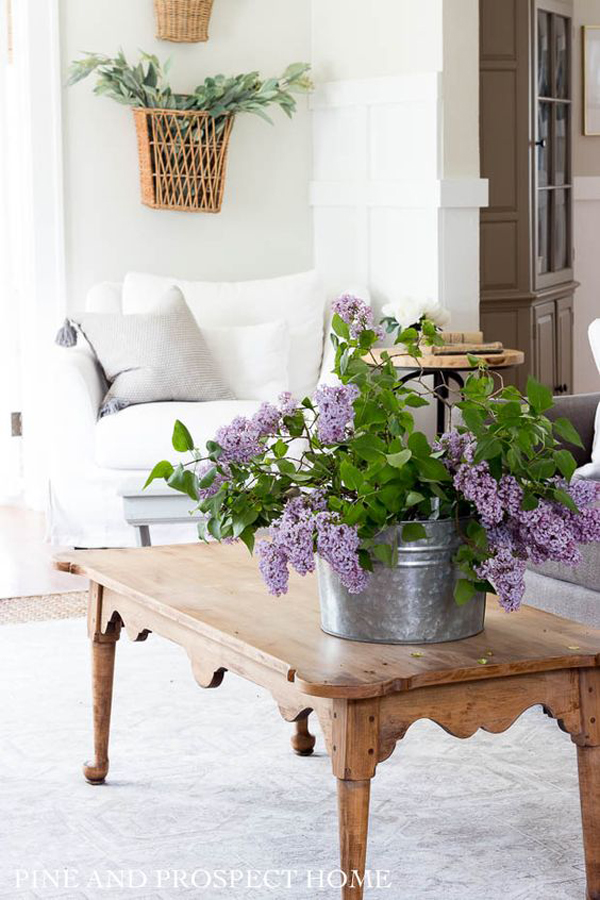
[[[549,418],[566,416],[571,420],[584,444],[572,447],[579,466],[591,460],[594,422],[600,394],[574,394],[556,397]],[[587,625],[600,627],[600,544],[582,547],[583,561],[571,569],[560,563],[529,565],[525,576],[524,602]]]

